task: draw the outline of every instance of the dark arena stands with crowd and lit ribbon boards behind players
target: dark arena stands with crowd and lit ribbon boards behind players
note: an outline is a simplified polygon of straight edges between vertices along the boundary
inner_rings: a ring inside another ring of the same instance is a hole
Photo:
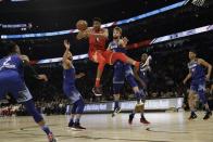
[[[48,75],[49,81],[46,83],[38,83],[30,75],[26,75],[26,83],[37,107],[45,114],[64,114],[68,104],[62,92],[62,66],[59,59],[64,52],[64,39],[71,41],[77,73],[86,74],[86,77],[76,82],[85,101],[95,104],[113,101],[113,67],[106,66],[104,69],[103,96],[95,98],[91,88],[97,65],[87,57],[87,41],[77,41],[75,38],[75,23],[83,18],[91,26],[95,16],[102,18],[110,35],[113,27],[123,28],[124,36],[129,39],[129,56],[140,60],[141,53],[152,55],[148,100],[183,99],[187,96],[189,86],[181,85],[188,72],[188,50],[196,49],[199,56],[213,64],[213,16],[210,16],[212,7],[210,0],[202,7],[196,7],[187,0],[1,0],[0,41],[15,41],[23,53],[30,57],[36,70]],[[3,49],[0,50],[2,57],[4,52]],[[209,82],[206,93],[211,107],[212,90]],[[128,83],[123,92],[122,100],[134,100]],[[14,107],[8,103],[15,104],[15,101],[11,96],[8,100],[9,102],[1,101],[2,108]],[[187,109],[185,102],[179,105]],[[100,113],[100,107],[95,106],[95,112]],[[158,107],[161,105],[156,109]],[[88,106],[89,108],[91,107]],[[163,109],[167,108],[170,105]],[[21,105],[16,109],[17,115],[25,115]],[[112,106],[106,111],[112,111]]]

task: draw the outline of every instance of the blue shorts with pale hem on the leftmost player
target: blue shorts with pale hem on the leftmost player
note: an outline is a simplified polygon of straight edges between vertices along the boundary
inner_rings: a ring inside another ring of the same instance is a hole
[[[11,93],[18,103],[27,102],[33,99],[18,73],[15,70],[0,72],[0,100]]]

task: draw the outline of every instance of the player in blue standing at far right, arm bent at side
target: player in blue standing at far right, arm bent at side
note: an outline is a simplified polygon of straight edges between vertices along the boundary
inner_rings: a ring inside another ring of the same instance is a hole
[[[196,51],[189,51],[189,60],[188,68],[189,74],[184,79],[184,83],[186,83],[191,78],[190,91],[188,95],[188,103],[191,111],[191,115],[189,119],[196,119],[197,115],[195,113],[196,107],[196,94],[199,95],[199,99],[205,106],[205,116],[203,119],[209,119],[212,116],[212,112],[209,108],[208,100],[205,96],[205,81],[210,80],[212,65],[205,62],[202,59],[197,57]],[[208,74],[205,75],[204,67],[208,68]]]

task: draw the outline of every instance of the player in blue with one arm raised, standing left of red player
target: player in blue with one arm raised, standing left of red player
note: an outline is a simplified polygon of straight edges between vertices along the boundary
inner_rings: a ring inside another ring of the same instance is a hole
[[[67,40],[64,40],[64,47],[65,52],[63,55],[63,91],[66,94],[66,96],[72,101],[73,108],[71,114],[71,119],[68,122],[68,127],[74,130],[84,130],[86,128],[80,126],[80,117],[84,113],[85,108],[85,102],[83,100],[83,96],[78,92],[78,90],[75,87],[75,79],[82,78],[85,76],[85,74],[75,74],[75,67],[73,65],[73,55],[70,51],[70,42]]]

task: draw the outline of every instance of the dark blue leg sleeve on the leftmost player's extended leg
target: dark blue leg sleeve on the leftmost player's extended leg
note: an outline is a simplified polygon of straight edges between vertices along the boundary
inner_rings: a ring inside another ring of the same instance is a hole
[[[36,122],[40,122],[43,119],[42,116],[36,109],[36,106],[33,100],[24,102],[23,105],[25,106],[27,113],[34,117],[34,120]]]

